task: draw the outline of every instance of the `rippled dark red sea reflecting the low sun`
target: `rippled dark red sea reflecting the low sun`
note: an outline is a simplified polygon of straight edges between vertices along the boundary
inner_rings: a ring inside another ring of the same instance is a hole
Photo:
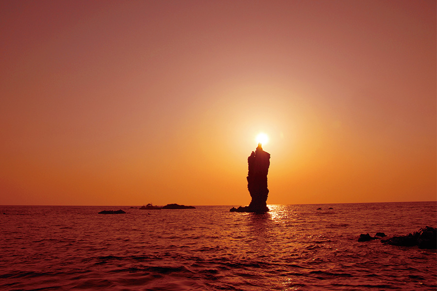
[[[0,206],[0,290],[437,289],[435,249],[357,241],[437,227],[437,202],[233,206]]]

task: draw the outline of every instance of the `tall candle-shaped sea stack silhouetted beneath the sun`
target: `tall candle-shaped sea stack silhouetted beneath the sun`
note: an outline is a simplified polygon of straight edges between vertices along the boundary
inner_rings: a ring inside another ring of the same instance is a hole
[[[251,194],[252,201],[249,206],[233,207],[231,212],[267,212],[267,196],[269,189],[267,188],[267,174],[269,173],[270,154],[263,150],[261,144],[255,151],[252,151],[247,158],[249,171],[247,175],[247,189]]]

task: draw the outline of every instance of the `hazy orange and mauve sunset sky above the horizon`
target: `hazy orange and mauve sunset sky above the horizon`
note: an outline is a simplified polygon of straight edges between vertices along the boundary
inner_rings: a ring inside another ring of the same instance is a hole
[[[436,1],[0,1],[0,205],[437,200]]]

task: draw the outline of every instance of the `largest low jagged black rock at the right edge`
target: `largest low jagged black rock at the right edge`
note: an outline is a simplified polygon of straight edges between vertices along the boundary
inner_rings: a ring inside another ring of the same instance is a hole
[[[402,236],[394,236],[381,242],[397,246],[415,246],[421,249],[437,249],[437,230],[434,227],[425,226],[419,231]]]

